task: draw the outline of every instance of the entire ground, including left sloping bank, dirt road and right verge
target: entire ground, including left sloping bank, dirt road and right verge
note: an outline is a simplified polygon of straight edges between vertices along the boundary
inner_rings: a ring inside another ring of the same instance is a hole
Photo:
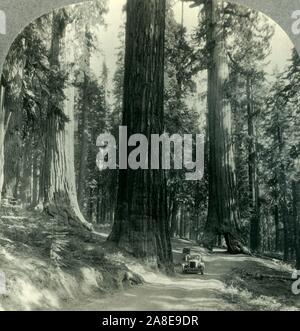
[[[79,238],[39,212],[2,208],[0,271],[7,293],[0,295],[0,310],[300,310],[292,268],[280,261],[210,254],[175,239],[176,273],[169,277],[109,250],[107,232]],[[204,276],[181,274],[184,247],[203,255]]]

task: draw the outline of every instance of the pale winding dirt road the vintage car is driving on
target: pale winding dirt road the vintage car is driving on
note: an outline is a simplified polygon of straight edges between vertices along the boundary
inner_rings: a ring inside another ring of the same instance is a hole
[[[203,253],[190,242],[176,240],[173,242],[175,262],[180,262],[183,247],[191,247],[195,253]],[[206,272],[200,275],[182,275],[178,268],[175,277],[138,271],[144,277],[146,284],[124,290],[112,296],[106,296],[90,302],[81,303],[78,310],[92,311],[160,311],[160,310],[278,310],[297,309],[291,305],[287,308],[282,302],[269,295],[274,289],[257,296],[248,290],[230,286],[230,275],[235,268],[252,266],[282,271],[282,266],[274,261],[255,259],[248,256],[230,256],[224,251],[205,254]],[[269,280],[267,281],[269,282]],[[255,283],[255,282],[254,282]],[[258,286],[260,286],[258,284]],[[289,284],[285,284],[287,295],[290,295]],[[259,290],[259,289],[258,289]],[[263,292],[263,291],[262,291]],[[299,308],[299,307],[298,307]]]

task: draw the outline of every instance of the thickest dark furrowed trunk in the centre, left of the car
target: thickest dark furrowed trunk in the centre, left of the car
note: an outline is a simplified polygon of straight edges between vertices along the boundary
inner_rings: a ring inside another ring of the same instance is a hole
[[[165,0],[128,0],[123,125],[128,135],[164,131]],[[149,158],[150,160],[150,158]],[[162,269],[172,268],[162,170],[120,170],[110,241]]]

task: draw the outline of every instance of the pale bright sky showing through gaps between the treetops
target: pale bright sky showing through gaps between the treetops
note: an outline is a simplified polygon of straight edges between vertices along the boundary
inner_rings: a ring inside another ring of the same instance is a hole
[[[105,15],[106,28],[99,29],[99,48],[102,50],[102,60],[99,61],[99,54],[92,59],[92,66],[97,75],[100,75],[102,63],[105,62],[109,69],[109,79],[113,77],[116,69],[116,54],[120,46],[118,34],[120,26],[125,22],[125,14],[122,11],[126,0],[109,0],[109,12]],[[178,22],[181,22],[181,1],[177,0],[174,13]],[[197,26],[198,8],[189,8],[189,4],[184,4],[184,25],[188,32],[192,32]],[[266,68],[271,75],[275,68],[279,71],[284,70],[288,60],[291,57],[291,49],[293,44],[281,27],[272,23],[275,26],[275,35],[272,40],[272,54],[268,59],[270,64]]]

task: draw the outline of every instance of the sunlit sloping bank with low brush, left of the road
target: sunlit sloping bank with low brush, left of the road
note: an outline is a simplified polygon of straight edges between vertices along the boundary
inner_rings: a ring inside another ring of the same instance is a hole
[[[141,284],[138,275],[106,254],[103,242],[100,234],[78,236],[41,212],[1,208],[0,273],[6,291],[0,284],[0,311],[60,310]]]

